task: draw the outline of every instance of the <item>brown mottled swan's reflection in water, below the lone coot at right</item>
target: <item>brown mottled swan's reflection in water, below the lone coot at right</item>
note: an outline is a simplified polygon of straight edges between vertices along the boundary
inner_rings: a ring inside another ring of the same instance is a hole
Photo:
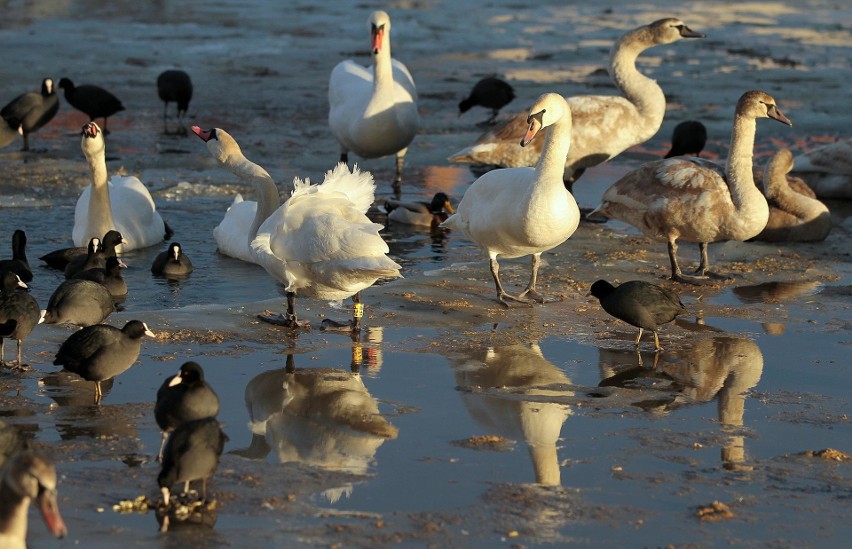
[[[601,386],[651,388],[657,397],[643,398],[635,406],[653,413],[667,413],[680,406],[717,401],[719,423],[730,435],[722,447],[726,469],[750,470],[745,462],[745,436],[741,434],[747,393],[763,373],[763,354],[754,341],[731,334],[695,338],[688,347],[648,352],[645,364],[636,364],[633,351],[599,349]],[[639,355],[639,363],[643,357]],[[630,364],[625,368],[625,364]],[[662,391],[660,395],[659,391]],[[645,391],[642,391],[643,393]]]

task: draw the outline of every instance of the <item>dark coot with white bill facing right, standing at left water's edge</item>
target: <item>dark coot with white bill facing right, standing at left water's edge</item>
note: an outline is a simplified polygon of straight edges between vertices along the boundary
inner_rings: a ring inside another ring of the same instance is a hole
[[[139,320],[131,320],[121,329],[108,324],[88,326],[65,340],[53,363],[86,381],[94,381],[95,403],[98,404],[102,396],[101,381],[114,378],[136,362],[143,336],[155,337]]]

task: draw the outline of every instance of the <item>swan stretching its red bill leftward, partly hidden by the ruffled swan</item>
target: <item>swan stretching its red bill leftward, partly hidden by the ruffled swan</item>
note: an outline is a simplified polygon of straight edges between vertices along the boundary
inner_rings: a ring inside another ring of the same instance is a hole
[[[239,194],[234,197],[225,217],[213,229],[213,240],[216,241],[220,253],[256,263],[251,251],[251,241],[257,236],[261,223],[281,205],[278,187],[266,170],[243,155],[240,146],[225,130],[202,130],[193,126],[192,131],[207,144],[207,150],[213,158],[240,179],[254,185],[257,201],[243,200]]]

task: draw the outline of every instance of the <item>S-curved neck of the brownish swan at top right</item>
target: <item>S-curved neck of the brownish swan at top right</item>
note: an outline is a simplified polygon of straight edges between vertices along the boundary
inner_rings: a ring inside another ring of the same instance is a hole
[[[655,45],[650,30],[642,27],[622,36],[612,47],[609,58],[612,79],[645,120],[648,138],[657,133],[663,121],[666,96],[655,80],[636,70],[636,59]]]

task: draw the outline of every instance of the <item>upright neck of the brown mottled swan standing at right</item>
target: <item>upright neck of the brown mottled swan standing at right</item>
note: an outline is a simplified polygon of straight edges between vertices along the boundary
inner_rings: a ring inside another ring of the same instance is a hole
[[[728,189],[737,213],[748,216],[766,210],[769,207],[766,199],[754,184],[753,160],[754,135],[757,121],[750,116],[737,113],[734,116],[734,129],[731,132],[731,151],[725,174],[728,179]],[[762,203],[762,204],[761,204]]]

